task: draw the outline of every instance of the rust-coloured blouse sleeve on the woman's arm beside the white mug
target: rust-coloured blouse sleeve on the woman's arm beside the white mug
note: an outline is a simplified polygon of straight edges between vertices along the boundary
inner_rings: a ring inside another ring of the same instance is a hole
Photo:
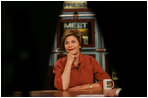
[[[111,77],[106,73],[102,67],[98,64],[98,62],[93,58],[93,72],[95,75],[95,79],[98,83],[103,87],[103,79],[111,79]]]

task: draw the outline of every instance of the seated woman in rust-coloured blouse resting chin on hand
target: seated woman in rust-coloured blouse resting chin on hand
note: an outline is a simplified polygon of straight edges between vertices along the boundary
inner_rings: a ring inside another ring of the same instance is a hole
[[[54,85],[58,90],[97,89],[102,91],[103,79],[111,77],[102,69],[95,58],[82,55],[82,35],[79,30],[66,30],[62,46],[67,53],[54,66]],[[97,83],[94,83],[94,80]]]

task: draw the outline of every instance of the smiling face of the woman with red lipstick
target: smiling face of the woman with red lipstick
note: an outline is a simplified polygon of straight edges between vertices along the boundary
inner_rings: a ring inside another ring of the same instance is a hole
[[[64,46],[65,46],[66,52],[68,54],[72,54],[72,55],[77,54],[80,51],[80,48],[81,48],[79,41],[73,35],[68,36],[65,39]]]

